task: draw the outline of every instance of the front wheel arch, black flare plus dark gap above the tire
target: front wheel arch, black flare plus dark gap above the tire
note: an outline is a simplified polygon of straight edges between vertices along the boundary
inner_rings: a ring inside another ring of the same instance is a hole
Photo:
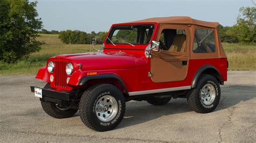
[[[123,80],[114,74],[100,74],[100,75],[91,75],[91,76],[83,76],[80,81],[78,82],[78,85],[92,85],[92,84],[98,84],[98,83],[106,83],[111,84],[117,87],[123,94],[128,95],[127,89],[125,87],[125,84]]]

